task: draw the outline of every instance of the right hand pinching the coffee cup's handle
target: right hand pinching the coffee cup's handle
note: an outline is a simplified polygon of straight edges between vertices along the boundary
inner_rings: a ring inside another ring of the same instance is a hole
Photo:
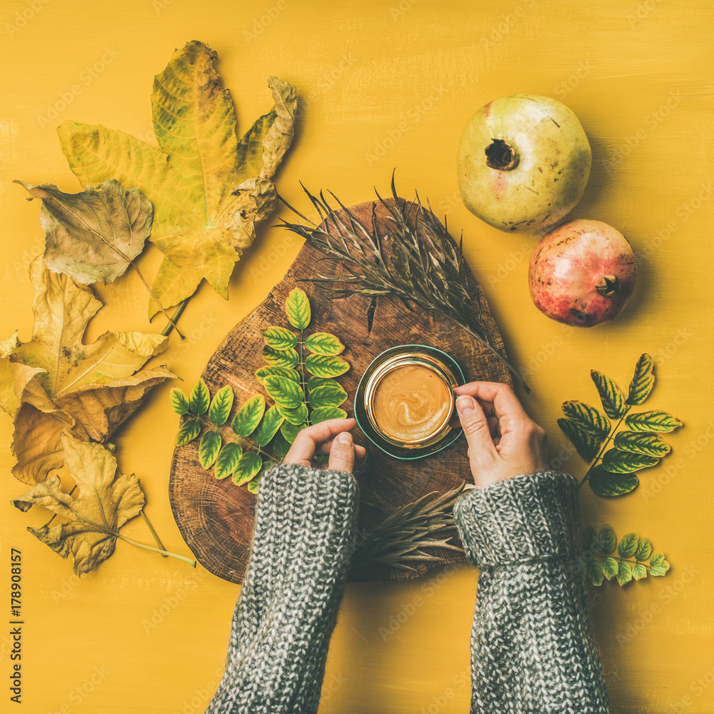
[[[545,471],[545,431],[507,384],[470,382],[454,389],[476,486]]]

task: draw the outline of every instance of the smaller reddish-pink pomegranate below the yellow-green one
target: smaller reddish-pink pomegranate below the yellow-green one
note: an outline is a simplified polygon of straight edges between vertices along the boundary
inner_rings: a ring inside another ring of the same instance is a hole
[[[535,306],[566,325],[613,321],[635,289],[637,263],[625,236],[602,221],[577,218],[540,238],[528,283]]]

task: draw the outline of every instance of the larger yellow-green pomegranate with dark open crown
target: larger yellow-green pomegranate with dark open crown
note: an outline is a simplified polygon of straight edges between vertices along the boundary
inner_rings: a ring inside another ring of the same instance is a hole
[[[578,117],[548,96],[482,106],[458,145],[458,187],[471,213],[509,233],[553,226],[580,201],[592,154]]]

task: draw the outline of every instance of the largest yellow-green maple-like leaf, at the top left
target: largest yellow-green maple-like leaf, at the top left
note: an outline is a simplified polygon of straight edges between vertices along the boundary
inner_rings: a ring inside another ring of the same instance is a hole
[[[154,281],[164,306],[191,296],[202,278],[224,298],[255,223],[277,205],[270,181],[290,146],[295,90],[271,77],[275,106],[241,141],[216,53],[198,41],[174,52],[151,94],[159,149],[122,131],[65,121],[62,150],[85,185],[116,178],[154,203],[151,241],[166,255]],[[156,314],[149,303],[149,317]]]

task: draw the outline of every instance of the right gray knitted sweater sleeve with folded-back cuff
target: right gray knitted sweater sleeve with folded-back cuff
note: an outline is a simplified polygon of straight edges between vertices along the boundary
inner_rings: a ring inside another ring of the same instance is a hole
[[[578,483],[541,471],[474,488],[453,508],[478,578],[471,713],[607,714],[578,568]]]

